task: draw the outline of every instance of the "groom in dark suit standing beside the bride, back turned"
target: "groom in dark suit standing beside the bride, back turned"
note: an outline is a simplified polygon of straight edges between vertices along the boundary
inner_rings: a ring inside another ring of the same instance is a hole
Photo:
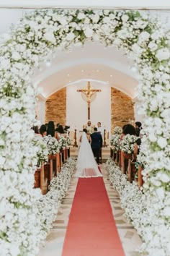
[[[97,132],[97,127],[94,127],[94,133],[90,135],[91,137],[91,149],[94,153],[94,157],[97,158],[97,163],[99,164],[100,149],[102,148],[103,140],[100,132]]]

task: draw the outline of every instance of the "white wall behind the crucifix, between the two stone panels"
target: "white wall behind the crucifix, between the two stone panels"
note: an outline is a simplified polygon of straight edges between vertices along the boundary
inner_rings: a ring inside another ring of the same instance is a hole
[[[67,93],[67,111],[66,124],[71,126],[71,130],[82,130],[84,124],[88,121],[87,103],[81,97],[81,93],[76,90],[86,88],[87,81],[81,81],[68,85]],[[102,127],[110,130],[111,120],[111,88],[101,82],[91,81],[91,86],[95,89],[100,89],[102,92],[97,93],[97,97],[91,102],[91,124],[97,126],[97,122],[102,123]]]

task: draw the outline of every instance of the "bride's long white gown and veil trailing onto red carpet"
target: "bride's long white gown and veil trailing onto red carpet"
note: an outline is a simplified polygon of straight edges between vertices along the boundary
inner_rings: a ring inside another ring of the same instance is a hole
[[[102,176],[102,174],[99,172],[97,162],[94,159],[91,145],[86,137],[86,132],[83,132],[81,137],[81,146],[79,149],[76,168],[76,177],[91,178]]]

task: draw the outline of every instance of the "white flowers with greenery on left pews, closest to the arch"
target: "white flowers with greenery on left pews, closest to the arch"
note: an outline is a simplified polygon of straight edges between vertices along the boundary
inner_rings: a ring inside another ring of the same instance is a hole
[[[32,144],[37,147],[37,166],[39,167],[42,162],[48,162],[48,147],[42,137],[35,136]]]

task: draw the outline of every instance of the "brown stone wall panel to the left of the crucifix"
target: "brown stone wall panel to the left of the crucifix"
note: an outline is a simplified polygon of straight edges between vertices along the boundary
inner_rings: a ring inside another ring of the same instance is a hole
[[[66,88],[58,90],[45,103],[45,123],[66,124]]]

